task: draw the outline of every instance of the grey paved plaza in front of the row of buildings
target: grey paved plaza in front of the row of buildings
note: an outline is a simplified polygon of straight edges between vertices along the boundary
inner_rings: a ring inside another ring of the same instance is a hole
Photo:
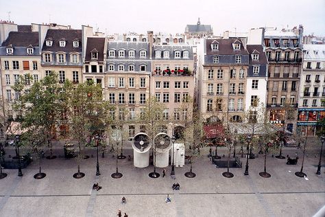
[[[127,147],[124,154],[132,155],[132,152]],[[206,157],[208,148],[203,148],[202,155],[193,163],[197,176],[193,179],[184,176],[189,171],[186,164],[176,168],[176,180],[173,180],[169,176],[170,166],[166,168],[167,176],[152,179],[148,176],[152,166],[134,168],[128,159],[119,160],[123,177],[112,179],[110,174],[116,166],[110,152],[104,158],[99,157],[101,175],[95,176],[95,150],[87,150],[93,157],[81,163],[81,171],[86,176],[74,179],[77,162],[64,159],[62,144],[57,144],[55,154],[59,157],[43,159],[43,172],[47,174],[44,179],[33,178],[38,172],[38,161],[23,169],[22,177],[17,176],[17,170],[4,170],[8,177],[0,179],[0,216],[117,216],[118,209],[129,217],[313,216],[325,205],[324,161],[322,173],[316,175],[319,151],[307,150],[304,161],[307,179],[300,178],[294,173],[300,171],[302,151],[284,148],[282,155],[295,157],[296,152],[300,157],[297,165],[287,165],[286,159],[267,156],[267,172],[272,174],[269,179],[258,175],[263,171],[261,155],[250,159],[249,176],[243,174],[245,158],[241,158],[243,168],[230,168],[234,178],[228,179],[222,176],[226,168],[216,168]],[[219,148],[218,155],[223,154],[226,148]],[[157,168],[160,175],[162,170]],[[92,190],[95,182],[102,187],[98,192]],[[176,182],[180,183],[180,191],[171,189]],[[167,194],[171,203],[165,203]],[[124,205],[121,204],[123,196],[127,201]]]

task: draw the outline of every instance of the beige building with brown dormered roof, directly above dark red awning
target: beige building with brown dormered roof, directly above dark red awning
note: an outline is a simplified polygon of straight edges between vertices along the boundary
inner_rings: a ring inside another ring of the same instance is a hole
[[[204,119],[241,122],[248,106],[245,100],[248,50],[237,38],[202,39],[200,45],[197,102]]]

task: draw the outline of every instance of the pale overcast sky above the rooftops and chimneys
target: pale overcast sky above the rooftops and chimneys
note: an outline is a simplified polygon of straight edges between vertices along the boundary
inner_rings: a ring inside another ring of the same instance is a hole
[[[224,31],[256,27],[290,29],[302,24],[304,34],[325,36],[325,0],[0,0],[0,19],[20,25],[58,23],[81,29],[90,25],[106,34],[184,33],[187,24]]]

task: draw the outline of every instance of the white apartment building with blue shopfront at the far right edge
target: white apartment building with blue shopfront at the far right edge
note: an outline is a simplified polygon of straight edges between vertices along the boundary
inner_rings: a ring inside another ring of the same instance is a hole
[[[315,136],[317,121],[325,117],[325,45],[304,45],[300,76],[298,126],[304,135]]]

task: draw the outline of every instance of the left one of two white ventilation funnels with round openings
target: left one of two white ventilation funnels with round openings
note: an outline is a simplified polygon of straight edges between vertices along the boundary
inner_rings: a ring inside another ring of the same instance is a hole
[[[132,139],[133,163],[136,168],[146,168],[149,165],[149,136],[145,133],[138,133]]]

